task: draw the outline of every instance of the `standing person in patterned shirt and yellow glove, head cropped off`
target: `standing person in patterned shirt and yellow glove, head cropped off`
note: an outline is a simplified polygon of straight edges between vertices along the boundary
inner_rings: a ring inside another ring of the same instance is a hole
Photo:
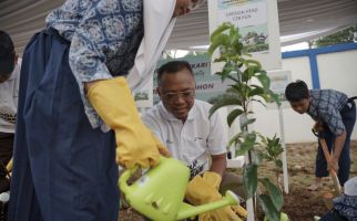
[[[116,162],[167,155],[131,90],[151,80],[175,18],[200,3],[67,0],[47,17],[23,52],[10,221],[118,220]]]

